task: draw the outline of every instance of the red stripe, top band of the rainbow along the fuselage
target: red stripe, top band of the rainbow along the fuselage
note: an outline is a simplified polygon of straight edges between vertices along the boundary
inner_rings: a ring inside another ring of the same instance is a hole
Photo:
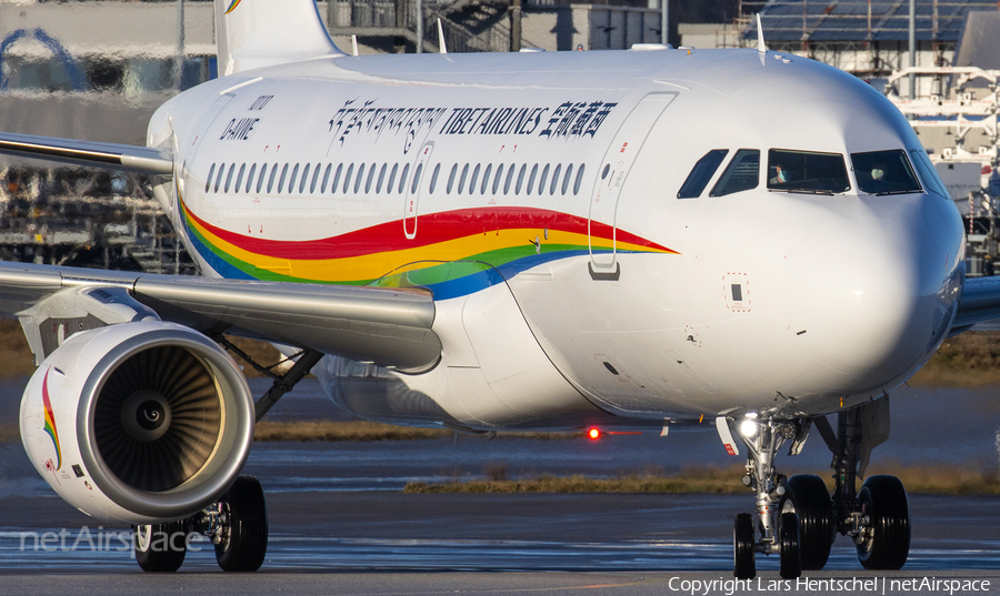
[[[339,236],[307,241],[246,236],[211,225],[190,210],[186,211],[199,225],[230,244],[254,254],[289,260],[363,256],[379,252],[418,249],[472,234],[508,229],[549,229],[587,235],[587,220],[583,218],[530,208],[463,209],[428,213],[419,216],[418,234],[413,240],[406,239],[402,220],[396,220]],[[612,234],[610,225],[593,222],[591,229],[594,236],[610,240]],[[651,250],[673,252],[623,230],[618,230],[618,240]]]

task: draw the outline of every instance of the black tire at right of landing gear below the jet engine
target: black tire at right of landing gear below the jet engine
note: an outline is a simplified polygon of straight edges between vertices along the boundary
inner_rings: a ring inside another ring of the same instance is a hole
[[[227,517],[216,545],[216,560],[226,572],[256,572],[268,552],[268,508],[253,476],[240,476],[219,499]]]

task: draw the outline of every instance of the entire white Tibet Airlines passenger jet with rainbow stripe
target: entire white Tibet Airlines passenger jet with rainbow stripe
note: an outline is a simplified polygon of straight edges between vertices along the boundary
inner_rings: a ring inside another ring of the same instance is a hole
[[[820,569],[838,533],[869,569],[906,563],[903,486],[858,476],[888,392],[1000,316],[1000,286],[964,280],[959,214],[881,94],[763,49],[352,57],[313,0],[216,0],[216,19],[220,78],[164,103],[148,147],[0,137],[150,174],[204,274],[0,266],[39,365],[28,455],[136,525],[142,568],[181,565],[164,533],[261,565],[240,471],[310,370],[392,424],[714,426],[756,497],[738,577],[759,554]],[[254,402],[222,333],[294,366]],[[810,430],[832,495],[776,471]]]

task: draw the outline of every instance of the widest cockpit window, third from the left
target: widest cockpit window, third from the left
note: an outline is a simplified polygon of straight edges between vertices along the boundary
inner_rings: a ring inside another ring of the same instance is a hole
[[[768,189],[809,194],[851,190],[840,153],[771,149],[768,151]]]

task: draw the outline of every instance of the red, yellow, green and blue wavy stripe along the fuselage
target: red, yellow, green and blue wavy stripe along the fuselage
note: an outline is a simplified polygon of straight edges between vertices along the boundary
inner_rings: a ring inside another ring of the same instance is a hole
[[[396,220],[308,241],[238,234],[206,222],[183,202],[181,208],[198,253],[223,277],[418,285],[430,289],[437,300],[471,294],[540,264],[587,255],[591,249],[594,253],[677,254],[606,224],[532,208],[461,209],[420,215],[412,240],[406,239],[403,222]]]

